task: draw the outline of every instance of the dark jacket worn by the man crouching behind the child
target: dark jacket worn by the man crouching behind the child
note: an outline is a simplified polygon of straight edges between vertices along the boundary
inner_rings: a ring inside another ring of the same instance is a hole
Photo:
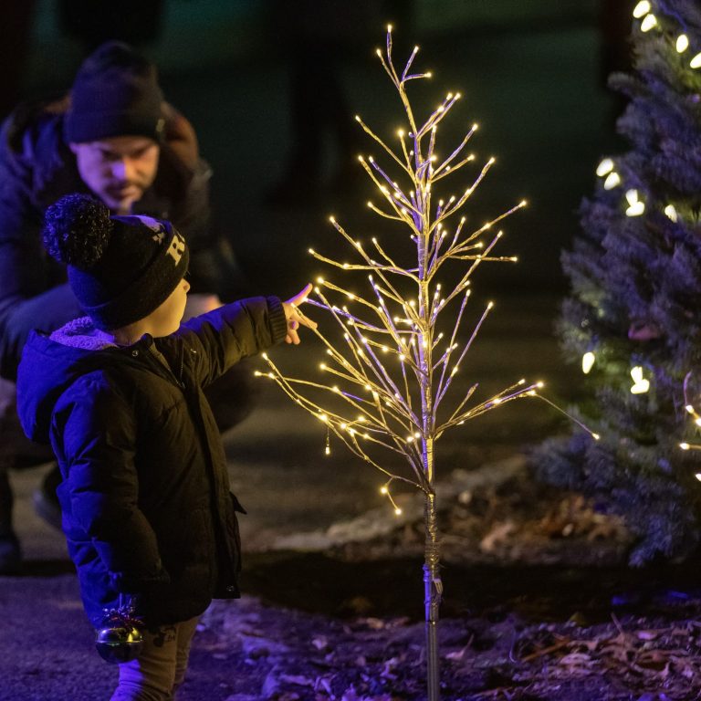
[[[68,98],[22,105],[0,128],[0,376],[8,379],[30,330],[55,330],[82,313],[41,242],[47,207],[65,194],[89,194],[63,141],[67,108]],[[133,213],[171,221],[188,239],[193,290],[222,294],[225,259],[233,258],[210,233],[210,170],[190,122],[167,103],[162,113],[158,173]]]

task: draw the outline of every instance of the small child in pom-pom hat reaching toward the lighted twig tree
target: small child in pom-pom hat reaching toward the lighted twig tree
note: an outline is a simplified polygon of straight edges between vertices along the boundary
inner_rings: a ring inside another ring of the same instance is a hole
[[[188,247],[169,222],[112,216],[87,195],[49,207],[49,254],[87,317],[33,333],[20,365],[26,434],[50,442],[68,552],[96,627],[120,595],[145,626],[112,701],[169,699],[199,615],[239,595],[238,527],[224,449],[203,387],[287,340],[310,286],[288,302],[251,298],[180,326]],[[235,402],[236,397],[231,397]]]

